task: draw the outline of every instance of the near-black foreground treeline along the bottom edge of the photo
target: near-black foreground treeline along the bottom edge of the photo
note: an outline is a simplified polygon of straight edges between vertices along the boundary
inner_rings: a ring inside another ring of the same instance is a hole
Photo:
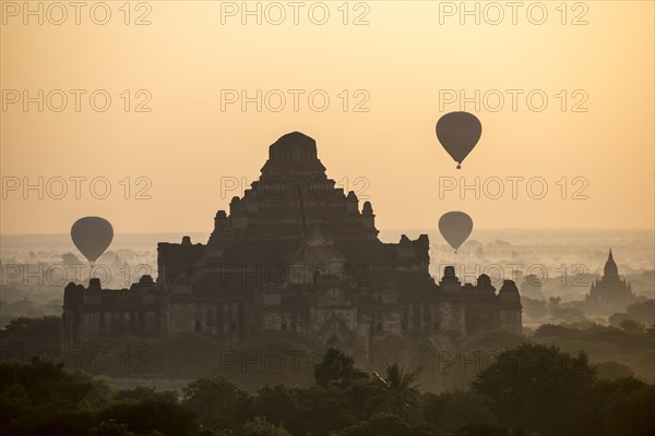
[[[62,364],[0,365],[0,434],[87,436],[652,435],[655,387],[600,379],[583,352],[521,342],[467,389],[422,390],[426,371],[362,372],[330,349],[310,386],[240,388],[224,374],[181,392],[115,390]]]

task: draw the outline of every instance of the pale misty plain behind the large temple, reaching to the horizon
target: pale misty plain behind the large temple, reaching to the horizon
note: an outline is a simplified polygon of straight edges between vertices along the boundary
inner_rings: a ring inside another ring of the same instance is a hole
[[[437,242],[441,237],[434,231],[386,230],[382,231],[381,238],[397,240],[402,232],[430,235],[430,274],[436,278],[442,276],[444,265],[455,265],[460,278],[468,282],[473,282],[481,272],[488,274],[497,288],[503,278],[514,279],[521,286],[527,325],[580,320],[588,316],[580,303],[591,283],[603,274],[609,246],[619,253],[617,262],[620,275],[631,282],[638,298],[643,301],[655,298],[653,237],[648,232],[635,231],[630,237],[611,231],[555,232],[549,235],[548,243],[544,243],[543,239],[521,231],[497,230],[486,234],[480,230],[477,240],[471,239],[462,245],[456,258],[453,258],[449,245]],[[92,274],[83,257],[71,252],[74,247],[67,234],[3,235],[0,251],[0,326],[21,316],[60,315],[63,288],[69,281],[87,283],[93,276],[100,278],[104,289],[123,289],[136,282],[142,275],[155,277],[157,259],[153,247],[158,241],[180,240],[181,237],[181,233],[130,235],[129,247],[119,244],[107,251],[97,259],[97,267]],[[207,234],[191,233],[191,238],[202,241]],[[34,250],[34,246],[43,249]],[[522,286],[531,275],[536,280],[531,279],[528,284],[539,282],[539,287]],[[549,298],[560,298],[563,311],[544,314],[543,303],[548,305]],[[535,303],[526,303],[527,299]],[[651,313],[654,312],[651,310]],[[634,318],[640,315],[634,313],[628,316]],[[590,319],[602,322],[593,316]],[[653,324],[652,320],[638,320]]]

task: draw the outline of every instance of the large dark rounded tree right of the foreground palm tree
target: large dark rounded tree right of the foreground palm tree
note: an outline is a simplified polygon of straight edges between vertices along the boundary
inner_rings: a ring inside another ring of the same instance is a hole
[[[595,379],[585,353],[523,342],[502,351],[473,388],[491,398],[502,425],[561,435],[571,433]]]

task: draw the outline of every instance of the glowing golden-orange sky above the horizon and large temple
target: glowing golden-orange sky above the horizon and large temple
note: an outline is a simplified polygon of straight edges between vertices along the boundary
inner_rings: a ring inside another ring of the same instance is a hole
[[[120,233],[210,231],[238,194],[222,179],[249,184],[296,130],[379,229],[449,210],[477,228],[653,227],[652,1],[291,3],[2,1],[0,232],[88,215]],[[483,124],[461,170],[434,134],[454,110]],[[476,178],[479,198],[440,194]]]

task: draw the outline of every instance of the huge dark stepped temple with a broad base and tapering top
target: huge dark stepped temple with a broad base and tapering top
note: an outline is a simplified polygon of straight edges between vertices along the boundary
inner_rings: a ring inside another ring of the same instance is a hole
[[[67,286],[66,347],[94,336],[199,331],[229,348],[287,330],[374,361],[380,350],[449,330],[522,329],[513,281],[498,292],[485,275],[462,284],[449,266],[437,283],[427,235],[381,242],[371,203],[335,187],[311,137],[282,136],[261,172],[229,211],[217,211],[206,244],[188,237],[158,244],[156,282]]]

